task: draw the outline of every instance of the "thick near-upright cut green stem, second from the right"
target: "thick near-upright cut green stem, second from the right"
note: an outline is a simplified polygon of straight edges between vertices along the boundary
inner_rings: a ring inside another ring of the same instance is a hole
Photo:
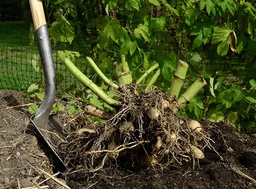
[[[174,74],[173,80],[171,82],[171,87],[169,90],[170,100],[173,100],[173,97],[178,99],[180,89],[185,81],[185,76],[188,70],[188,64],[184,61],[179,60]]]

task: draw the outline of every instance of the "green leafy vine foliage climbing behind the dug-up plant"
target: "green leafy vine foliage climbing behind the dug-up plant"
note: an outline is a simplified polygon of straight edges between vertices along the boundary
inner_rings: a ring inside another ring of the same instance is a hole
[[[252,3],[242,0],[185,0],[175,4],[167,0],[146,0],[144,5],[143,2],[77,0],[70,3],[69,0],[49,0],[48,12],[51,14],[48,17],[54,20],[49,23],[50,38],[55,45],[62,45],[66,49],[58,51],[58,57],[74,60],[84,54],[93,54],[95,62],[100,62],[100,69],[110,78],[114,77],[112,62],[121,61],[120,54],[127,55],[135,78],[150,65],[159,63],[163,77],[157,85],[163,90],[170,87],[177,61],[186,58],[190,63],[187,79],[194,81],[198,73],[192,67],[198,66],[204,78],[208,79],[208,85],[204,94],[198,94],[181,114],[212,121],[228,120],[238,127],[246,125],[248,130],[252,130],[254,126],[248,120],[254,120],[256,115],[255,81],[250,81],[252,89],[244,90],[241,86],[228,88],[223,84],[223,74],[208,72],[205,67],[200,67],[202,62],[205,65],[213,63],[204,58],[206,54],[200,52],[204,49],[210,49],[217,61],[225,62],[226,55],[235,54],[236,57],[249,59],[248,67],[255,62],[256,8]],[[148,6],[148,3],[154,6]],[[98,14],[97,18],[90,14],[92,11]],[[178,30],[174,33],[177,20]],[[83,43],[78,42],[81,40]],[[161,44],[161,41],[166,45]],[[90,50],[84,52],[78,46]],[[194,54],[192,51],[200,53]],[[247,69],[239,67],[236,62],[230,64],[231,70]],[[40,62],[33,61],[32,65],[38,69]],[[151,77],[152,74],[148,80]],[[104,85],[102,88],[107,89]],[[86,103],[110,109],[91,92],[85,92],[85,89],[82,91],[81,95],[87,95],[83,97]],[[31,95],[36,97],[36,94]],[[73,112],[73,108],[70,111]]]

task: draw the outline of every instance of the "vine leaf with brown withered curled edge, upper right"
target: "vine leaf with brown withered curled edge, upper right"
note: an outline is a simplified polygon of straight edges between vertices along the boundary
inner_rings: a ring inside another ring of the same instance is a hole
[[[212,38],[213,44],[219,43],[217,53],[224,56],[228,53],[229,46],[236,52],[236,34],[232,30],[231,24],[224,23],[223,26],[215,27]]]

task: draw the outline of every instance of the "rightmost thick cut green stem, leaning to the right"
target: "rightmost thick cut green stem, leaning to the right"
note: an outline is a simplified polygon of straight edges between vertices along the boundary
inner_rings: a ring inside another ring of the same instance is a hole
[[[187,102],[191,101],[192,98],[206,85],[206,81],[203,78],[199,78],[194,81],[192,85],[185,91],[181,97],[178,98],[178,106],[182,108],[186,105]]]

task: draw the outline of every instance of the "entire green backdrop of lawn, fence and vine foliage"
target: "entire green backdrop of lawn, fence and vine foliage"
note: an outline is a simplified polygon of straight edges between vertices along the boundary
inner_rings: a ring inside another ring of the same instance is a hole
[[[127,56],[134,78],[157,62],[161,76],[156,85],[162,90],[168,90],[177,61],[183,60],[190,65],[183,91],[199,75],[208,84],[180,114],[194,119],[227,120],[240,130],[254,131],[254,1],[44,0],[43,3],[58,94],[87,95],[85,88],[66,71],[63,63],[66,56],[105,90],[107,87],[87,65],[86,56],[92,57],[110,79],[114,77],[112,63],[120,62],[121,54]],[[27,13],[30,15],[29,10]],[[43,87],[31,19],[21,21],[8,15],[5,18],[5,22],[0,22],[4,28],[0,34],[0,88],[25,91],[32,83]]]

